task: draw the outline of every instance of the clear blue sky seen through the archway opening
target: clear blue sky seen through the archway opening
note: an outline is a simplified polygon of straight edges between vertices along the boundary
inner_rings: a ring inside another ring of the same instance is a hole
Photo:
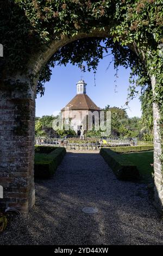
[[[87,95],[96,103],[98,107],[125,107],[127,99],[127,89],[129,86],[129,69],[120,67],[118,70],[117,87],[115,93],[115,70],[113,63],[106,70],[111,56],[103,58],[97,68],[96,86],[94,83],[93,71],[85,72],[83,78],[87,83]],[[57,114],[76,95],[76,83],[81,78],[81,71],[77,66],[67,64],[65,67],[55,66],[52,69],[51,81],[45,84],[45,95],[36,99],[36,117],[42,115]],[[130,101],[127,109],[129,117],[141,117],[141,104],[139,97]]]

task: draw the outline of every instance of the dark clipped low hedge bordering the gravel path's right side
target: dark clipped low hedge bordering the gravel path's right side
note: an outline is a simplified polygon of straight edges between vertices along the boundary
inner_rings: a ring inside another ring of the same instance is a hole
[[[118,179],[128,181],[139,179],[139,170],[137,170],[135,164],[128,161],[123,154],[117,154],[111,149],[101,149],[100,154]]]

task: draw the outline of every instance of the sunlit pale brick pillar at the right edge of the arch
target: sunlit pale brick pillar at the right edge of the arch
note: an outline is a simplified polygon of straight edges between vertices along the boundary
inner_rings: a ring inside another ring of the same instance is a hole
[[[152,77],[152,88],[154,93],[155,77]],[[163,210],[163,175],[162,166],[160,162],[161,154],[161,139],[159,135],[159,110],[155,103],[153,103],[153,135],[154,135],[154,205],[160,212]]]

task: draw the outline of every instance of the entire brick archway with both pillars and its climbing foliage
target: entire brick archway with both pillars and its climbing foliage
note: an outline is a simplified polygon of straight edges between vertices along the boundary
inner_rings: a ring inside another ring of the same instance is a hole
[[[131,68],[130,96],[141,86],[143,107],[148,100],[153,103],[154,202],[162,209],[162,7],[162,0],[0,2],[4,206],[16,206],[27,213],[34,204],[35,95],[43,94],[51,67],[68,62],[82,65],[85,61],[88,70],[96,71],[99,59],[111,48],[115,68]]]

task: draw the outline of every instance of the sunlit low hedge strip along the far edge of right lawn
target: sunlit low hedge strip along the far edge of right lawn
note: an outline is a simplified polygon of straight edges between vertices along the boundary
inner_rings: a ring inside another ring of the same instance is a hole
[[[127,147],[110,147],[116,153],[130,153],[153,150],[153,145],[127,146]]]

